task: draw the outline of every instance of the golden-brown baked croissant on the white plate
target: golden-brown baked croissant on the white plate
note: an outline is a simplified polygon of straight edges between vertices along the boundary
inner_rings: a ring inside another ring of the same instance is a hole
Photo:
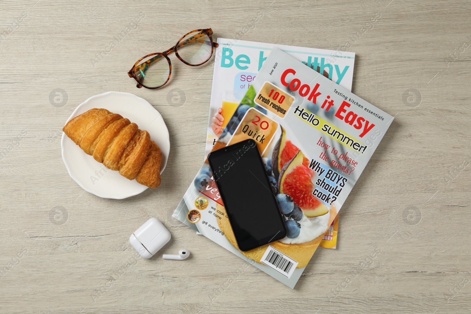
[[[62,129],[87,154],[148,187],[160,185],[159,146],[146,130],[106,109],[90,109],[67,122]]]

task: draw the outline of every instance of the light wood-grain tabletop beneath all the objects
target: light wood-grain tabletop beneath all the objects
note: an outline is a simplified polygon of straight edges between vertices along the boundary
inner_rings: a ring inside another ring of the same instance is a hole
[[[469,313],[470,2],[272,1],[0,2],[1,313]],[[395,116],[338,248],[318,249],[294,290],[171,217],[202,163],[213,64],[174,57],[158,90],[126,72],[206,27],[354,51],[353,92]],[[171,138],[162,185],[122,201],[84,192],[61,158],[73,109],[109,90],[148,100]],[[163,253],[192,256],[137,258],[128,238],[149,217],[172,233]]]

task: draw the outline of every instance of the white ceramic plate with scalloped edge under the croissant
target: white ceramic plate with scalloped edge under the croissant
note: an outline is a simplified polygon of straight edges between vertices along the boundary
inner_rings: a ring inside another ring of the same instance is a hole
[[[169,130],[162,115],[145,99],[130,93],[107,92],[90,97],[81,103],[67,120],[75,118],[92,108],[105,108],[112,113],[119,113],[146,130],[162,152],[160,173],[162,174],[170,152]],[[65,124],[64,124],[65,125]],[[103,164],[87,155],[73,141],[62,133],[62,159],[69,175],[85,191],[103,198],[124,199],[144,192],[147,186],[136,180],[122,177],[118,171],[107,169]]]

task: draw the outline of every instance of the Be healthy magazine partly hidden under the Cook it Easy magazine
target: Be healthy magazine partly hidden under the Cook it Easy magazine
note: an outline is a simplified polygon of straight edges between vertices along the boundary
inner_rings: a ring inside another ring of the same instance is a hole
[[[317,72],[321,72],[322,69],[325,77],[351,91],[355,53],[225,38],[218,38],[218,43],[204,159],[211,152],[222,130],[234,114],[235,108],[252,85],[261,65],[274,47],[283,50]],[[225,118],[221,128],[212,124],[212,118],[219,108],[221,115]],[[335,249],[338,217],[329,229],[331,230],[325,234],[320,246]]]

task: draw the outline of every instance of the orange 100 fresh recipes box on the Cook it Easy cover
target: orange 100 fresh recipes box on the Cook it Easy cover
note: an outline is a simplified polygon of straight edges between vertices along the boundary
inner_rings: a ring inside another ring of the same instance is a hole
[[[268,109],[280,118],[284,118],[288,109],[294,102],[294,97],[277,88],[270,82],[265,82],[255,96],[255,104]]]

